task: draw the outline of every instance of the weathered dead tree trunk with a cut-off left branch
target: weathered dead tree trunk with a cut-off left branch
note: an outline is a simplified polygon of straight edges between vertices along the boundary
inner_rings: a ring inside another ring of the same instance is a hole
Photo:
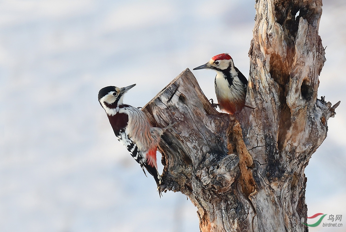
[[[317,99],[322,1],[258,0],[246,104],[218,113],[185,70],[143,110],[162,136],[165,190],[198,208],[201,231],[308,231],[304,169],[334,109]],[[299,15],[295,15],[299,12]]]

